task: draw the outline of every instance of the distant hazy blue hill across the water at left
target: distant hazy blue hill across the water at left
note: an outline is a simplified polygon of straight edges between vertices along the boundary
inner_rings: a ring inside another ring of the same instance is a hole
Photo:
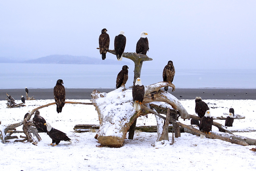
[[[129,62],[117,61],[112,59],[102,60],[101,58],[91,58],[87,56],[72,55],[50,55],[37,59],[15,61],[7,58],[0,58],[0,63],[57,63],[57,64],[113,64],[113,65],[130,65]]]

